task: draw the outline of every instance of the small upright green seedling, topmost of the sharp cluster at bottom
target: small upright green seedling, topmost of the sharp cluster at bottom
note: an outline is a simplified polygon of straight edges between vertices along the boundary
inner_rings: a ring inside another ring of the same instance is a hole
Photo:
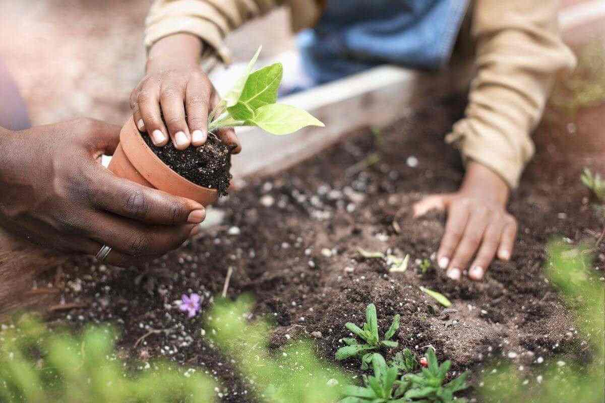
[[[378,317],[376,316],[376,306],[370,304],[365,309],[365,323],[363,328],[357,326],[355,323],[348,322],[345,324],[348,330],[354,335],[361,338],[365,343],[359,343],[355,338],[344,338],[344,347],[341,347],[336,352],[336,359],[347,359],[354,356],[361,356],[361,369],[368,369],[368,364],[371,363],[372,353],[370,350],[376,350],[380,347],[395,348],[399,346],[397,341],[392,341],[391,338],[395,332],[399,329],[399,315],[395,315],[393,323],[387,329],[384,334],[384,339],[380,340],[378,335]]]

